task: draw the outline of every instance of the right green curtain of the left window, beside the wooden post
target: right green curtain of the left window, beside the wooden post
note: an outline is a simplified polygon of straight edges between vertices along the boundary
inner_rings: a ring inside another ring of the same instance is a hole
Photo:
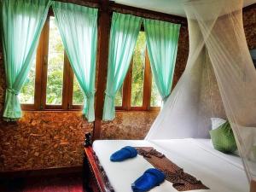
[[[98,10],[60,2],[54,2],[53,9],[68,59],[84,92],[84,116],[94,121]]]

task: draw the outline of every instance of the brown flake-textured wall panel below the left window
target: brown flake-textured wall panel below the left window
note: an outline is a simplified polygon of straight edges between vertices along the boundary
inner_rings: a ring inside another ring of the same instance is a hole
[[[81,112],[26,112],[0,126],[0,172],[82,164],[84,132],[92,125]]]

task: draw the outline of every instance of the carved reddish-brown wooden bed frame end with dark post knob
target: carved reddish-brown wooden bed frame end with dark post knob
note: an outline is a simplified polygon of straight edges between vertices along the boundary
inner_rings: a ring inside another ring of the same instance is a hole
[[[84,139],[84,189],[86,192],[113,192],[113,187],[92,148],[91,134]]]

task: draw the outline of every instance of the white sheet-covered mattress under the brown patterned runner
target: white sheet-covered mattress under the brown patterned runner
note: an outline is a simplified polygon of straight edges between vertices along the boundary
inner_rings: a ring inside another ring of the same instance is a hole
[[[212,148],[210,140],[172,139],[172,140],[99,140],[93,143],[100,163],[108,175],[109,182],[116,192],[131,192],[131,183],[151,166],[138,155],[123,162],[111,162],[113,152],[127,145],[134,147],[154,147],[165,154],[184,172],[195,176],[207,185],[208,190],[195,192],[248,192],[247,177],[239,157],[222,154]],[[150,192],[177,192],[172,183],[165,181]]]

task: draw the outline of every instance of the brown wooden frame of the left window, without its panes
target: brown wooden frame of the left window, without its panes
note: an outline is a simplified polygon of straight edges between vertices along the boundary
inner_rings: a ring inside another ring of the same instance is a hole
[[[21,109],[24,111],[61,111],[61,110],[81,110],[83,105],[73,104],[73,69],[68,61],[67,54],[64,51],[63,63],[63,84],[61,105],[46,104],[47,75],[48,75],[48,53],[49,53],[49,17],[54,16],[52,9],[45,20],[43,30],[41,32],[37,56],[36,56],[36,74],[35,74],[35,90],[34,103],[21,103]]]

